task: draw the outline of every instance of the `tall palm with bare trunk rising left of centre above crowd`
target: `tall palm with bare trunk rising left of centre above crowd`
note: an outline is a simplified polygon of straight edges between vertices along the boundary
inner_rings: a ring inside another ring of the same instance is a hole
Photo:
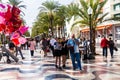
[[[53,24],[54,24],[54,14],[57,12],[59,7],[59,3],[55,1],[46,1],[42,3],[42,6],[40,7],[40,13],[47,14],[49,18],[49,28],[51,29],[52,35],[53,35]]]

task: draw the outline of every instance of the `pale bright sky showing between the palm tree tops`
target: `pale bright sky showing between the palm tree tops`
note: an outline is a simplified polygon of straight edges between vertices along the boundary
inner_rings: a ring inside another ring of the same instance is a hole
[[[6,3],[8,0],[2,0],[2,2]],[[26,21],[26,25],[32,27],[33,22],[35,22],[36,17],[39,13],[39,7],[46,0],[23,0],[22,4],[26,5],[26,9],[22,11],[25,13],[23,17]],[[60,4],[70,4],[73,0],[54,0],[58,1]]]

